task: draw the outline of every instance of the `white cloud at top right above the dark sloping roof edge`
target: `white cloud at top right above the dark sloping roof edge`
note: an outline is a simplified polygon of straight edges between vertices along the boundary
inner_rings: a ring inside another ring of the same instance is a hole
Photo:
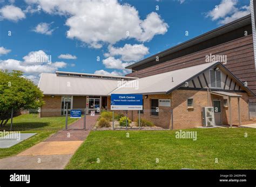
[[[237,4],[238,0],[222,0],[219,5],[206,13],[206,17],[210,17],[213,21],[219,20],[219,24],[227,24],[250,14],[250,6],[237,8]]]

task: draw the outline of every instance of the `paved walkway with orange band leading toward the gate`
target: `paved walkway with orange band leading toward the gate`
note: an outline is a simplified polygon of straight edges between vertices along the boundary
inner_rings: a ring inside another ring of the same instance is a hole
[[[0,160],[0,169],[64,169],[90,131],[59,131],[16,156]]]

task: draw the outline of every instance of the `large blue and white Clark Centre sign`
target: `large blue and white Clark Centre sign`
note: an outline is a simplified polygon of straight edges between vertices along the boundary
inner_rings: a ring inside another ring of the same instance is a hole
[[[143,110],[141,94],[111,94],[111,110]]]

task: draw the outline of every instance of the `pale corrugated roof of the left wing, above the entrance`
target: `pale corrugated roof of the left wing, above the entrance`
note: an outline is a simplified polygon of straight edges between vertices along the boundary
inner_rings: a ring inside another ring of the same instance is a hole
[[[103,78],[57,76],[42,73],[38,87],[45,95],[106,96],[118,87],[118,81]]]

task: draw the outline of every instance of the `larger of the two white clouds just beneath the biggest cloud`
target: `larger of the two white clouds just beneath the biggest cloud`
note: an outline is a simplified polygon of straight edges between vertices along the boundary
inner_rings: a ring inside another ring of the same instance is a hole
[[[142,59],[146,54],[149,54],[149,48],[143,44],[125,44],[124,47],[113,47],[109,46],[109,53],[105,53],[106,57],[110,56],[121,56],[122,61],[131,62]]]

